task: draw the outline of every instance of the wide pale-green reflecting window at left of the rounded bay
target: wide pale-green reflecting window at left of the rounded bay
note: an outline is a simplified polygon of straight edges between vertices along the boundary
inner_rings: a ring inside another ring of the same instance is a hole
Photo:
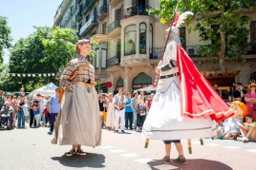
[[[124,29],[124,55],[136,54],[136,25]]]

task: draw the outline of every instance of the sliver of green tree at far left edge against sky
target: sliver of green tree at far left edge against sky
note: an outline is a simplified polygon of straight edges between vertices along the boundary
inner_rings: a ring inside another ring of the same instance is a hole
[[[4,48],[10,48],[11,41],[11,28],[8,27],[7,18],[0,15],[0,63],[4,61]]]

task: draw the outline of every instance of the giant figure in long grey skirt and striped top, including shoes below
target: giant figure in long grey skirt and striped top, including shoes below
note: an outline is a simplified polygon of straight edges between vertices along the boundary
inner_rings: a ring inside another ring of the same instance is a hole
[[[60,77],[66,90],[52,142],[73,145],[67,156],[85,155],[81,145],[95,147],[101,143],[95,68],[88,61],[91,47],[89,40],[79,40],[76,44],[77,57],[66,66]]]

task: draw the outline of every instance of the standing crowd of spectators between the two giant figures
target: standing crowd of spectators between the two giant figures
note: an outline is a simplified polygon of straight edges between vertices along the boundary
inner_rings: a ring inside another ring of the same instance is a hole
[[[124,130],[141,132],[148,110],[151,107],[154,93],[145,95],[143,90],[134,91],[131,95],[126,89],[119,88],[118,93],[99,94],[99,112],[102,128],[125,133]]]

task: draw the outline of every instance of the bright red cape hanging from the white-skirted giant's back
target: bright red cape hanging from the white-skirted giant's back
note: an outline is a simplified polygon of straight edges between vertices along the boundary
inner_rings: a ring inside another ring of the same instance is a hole
[[[182,116],[197,118],[209,115],[212,120],[219,122],[234,114],[180,46],[177,46],[177,65],[181,81]]]

